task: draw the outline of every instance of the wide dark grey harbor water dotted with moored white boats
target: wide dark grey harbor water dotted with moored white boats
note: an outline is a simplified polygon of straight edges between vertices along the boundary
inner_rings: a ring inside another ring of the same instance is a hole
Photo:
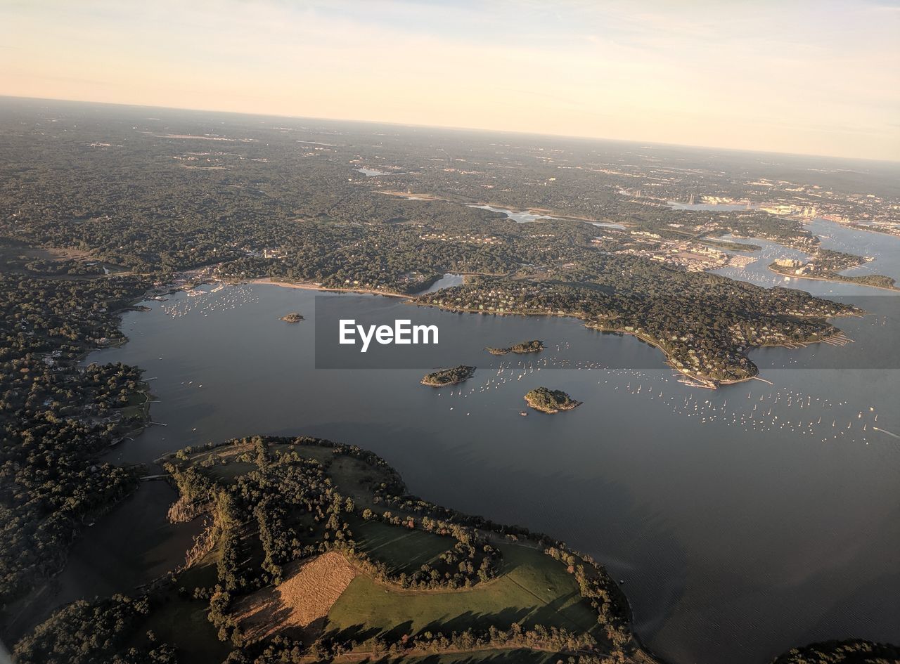
[[[893,361],[884,359],[896,334],[889,308],[842,319],[852,344],[754,350],[761,380],[718,390],[686,384],[635,336],[574,319],[421,310],[442,330],[431,364],[477,367],[452,388],[426,388],[422,370],[316,370],[317,296],[236,284],[203,296],[172,293],[148,301],[148,312],[127,313],[130,343],[89,360],[148,367],[161,398],[151,414],[168,426],[148,427],[108,460],[152,462],[186,444],[257,433],[364,444],[423,498],[552,531],[606,563],[626,581],[642,638],[663,656],[680,643],[714,659],[710,631],[734,642],[759,632],[760,615],[772,634],[766,652],[824,637],[834,624],[850,622],[872,638],[893,628],[867,608],[896,601],[892,588],[900,593],[889,545],[900,539],[890,508],[900,498],[896,370],[877,368]],[[347,315],[408,311],[397,299],[324,297],[338,298]],[[284,326],[278,317],[291,310],[307,320]],[[484,350],[524,338],[544,339],[545,350],[514,358]],[[823,368],[844,354],[869,363]],[[540,385],[584,405],[564,417],[521,417],[523,395]],[[445,460],[439,467],[436,457]],[[466,489],[457,477],[467,478]],[[826,516],[828,527],[811,528]],[[848,537],[872,528],[884,536],[847,549]],[[798,569],[825,573],[822,550],[853,562],[827,581],[798,579]],[[736,587],[728,581],[735,594],[721,594],[722,570],[741,570]],[[763,579],[770,590],[753,599],[761,613],[744,622],[742,588]]]

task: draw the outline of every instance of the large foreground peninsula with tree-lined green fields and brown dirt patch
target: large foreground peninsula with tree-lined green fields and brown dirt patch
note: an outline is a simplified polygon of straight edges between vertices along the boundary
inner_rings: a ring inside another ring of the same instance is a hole
[[[208,524],[184,567],[67,606],[17,660],[658,664],[590,555],[410,495],[355,445],[255,436],[162,461],[169,518]]]

